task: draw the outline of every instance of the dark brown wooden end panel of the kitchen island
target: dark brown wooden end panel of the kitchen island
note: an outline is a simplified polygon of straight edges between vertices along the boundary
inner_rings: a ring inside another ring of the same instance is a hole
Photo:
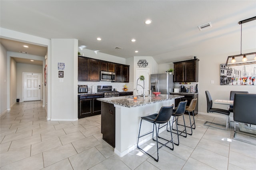
[[[108,142],[112,147],[115,147],[116,132],[115,132],[115,122],[116,113],[113,104],[101,102],[102,109],[101,113],[101,133],[103,134],[103,139]]]

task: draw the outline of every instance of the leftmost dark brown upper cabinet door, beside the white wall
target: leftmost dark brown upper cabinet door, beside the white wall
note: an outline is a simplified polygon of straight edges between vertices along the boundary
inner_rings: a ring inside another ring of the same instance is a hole
[[[90,81],[90,59],[78,56],[78,81]]]

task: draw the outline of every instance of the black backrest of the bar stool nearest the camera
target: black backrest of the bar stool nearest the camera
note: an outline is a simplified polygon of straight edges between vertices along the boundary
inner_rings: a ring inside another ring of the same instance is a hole
[[[154,122],[163,124],[170,120],[172,116],[172,109],[174,105],[171,106],[163,106],[161,107],[160,111],[158,112],[158,115],[156,116],[156,119]]]

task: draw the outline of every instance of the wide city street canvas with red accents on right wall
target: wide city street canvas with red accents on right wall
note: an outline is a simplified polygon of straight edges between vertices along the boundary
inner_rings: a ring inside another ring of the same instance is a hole
[[[256,64],[220,64],[220,85],[256,85]]]

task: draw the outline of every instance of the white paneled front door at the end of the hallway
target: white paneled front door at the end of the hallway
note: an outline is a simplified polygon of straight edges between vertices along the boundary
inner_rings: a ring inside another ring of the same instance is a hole
[[[23,73],[23,101],[41,100],[41,74]]]

